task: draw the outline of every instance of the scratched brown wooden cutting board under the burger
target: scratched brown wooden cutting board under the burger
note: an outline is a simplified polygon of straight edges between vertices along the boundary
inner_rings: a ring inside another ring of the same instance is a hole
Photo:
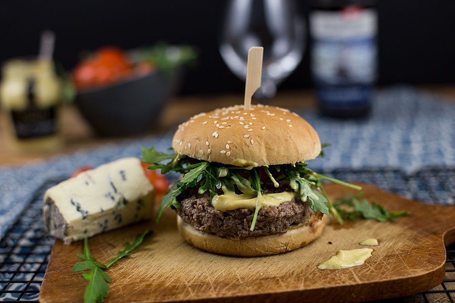
[[[327,186],[331,197],[348,190]],[[175,214],[168,210],[161,223],[143,223],[91,238],[94,256],[110,260],[136,234],[153,226],[155,233],[141,248],[108,270],[112,278],[106,302],[158,301],[362,301],[422,292],[444,276],[445,245],[455,241],[455,207],[411,201],[364,185],[370,201],[391,210],[409,210],[410,217],[392,223],[360,220],[343,226],[331,220],[320,239],[286,254],[236,258],[210,254],[187,244],[177,233]],[[366,246],[358,242],[379,239],[366,264],[319,270],[316,265],[337,249]],[[86,281],[71,267],[82,244],[58,240],[42,282],[39,300],[82,301]]]

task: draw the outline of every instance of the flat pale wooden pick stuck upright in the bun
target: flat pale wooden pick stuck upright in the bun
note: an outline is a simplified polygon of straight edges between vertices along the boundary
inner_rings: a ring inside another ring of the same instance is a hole
[[[262,74],[262,55],[264,47],[253,46],[248,51],[247,76],[245,82],[245,111],[251,107],[251,97],[254,92],[261,86]]]

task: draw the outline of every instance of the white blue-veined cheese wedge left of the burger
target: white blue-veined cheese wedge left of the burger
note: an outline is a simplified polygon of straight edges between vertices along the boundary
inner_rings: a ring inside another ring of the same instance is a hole
[[[138,158],[104,164],[44,194],[49,233],[65,244],[153,217],[155,190]]]

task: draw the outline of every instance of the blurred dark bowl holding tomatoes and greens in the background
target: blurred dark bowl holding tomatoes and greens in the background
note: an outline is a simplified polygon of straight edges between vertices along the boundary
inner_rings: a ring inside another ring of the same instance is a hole
[[[100,136],[141,134],[158,122],[178,75],[178,70],[155,70],[141,77],[80,91],[75,103]]]

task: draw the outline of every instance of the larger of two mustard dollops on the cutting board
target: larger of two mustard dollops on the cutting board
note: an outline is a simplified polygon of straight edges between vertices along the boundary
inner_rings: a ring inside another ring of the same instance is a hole
[[[371,257],[373,249],[358,248],[352,250],[337,250],[337,254],[327,261],[319,264],[319,269],[343,269],[359,266]]]

